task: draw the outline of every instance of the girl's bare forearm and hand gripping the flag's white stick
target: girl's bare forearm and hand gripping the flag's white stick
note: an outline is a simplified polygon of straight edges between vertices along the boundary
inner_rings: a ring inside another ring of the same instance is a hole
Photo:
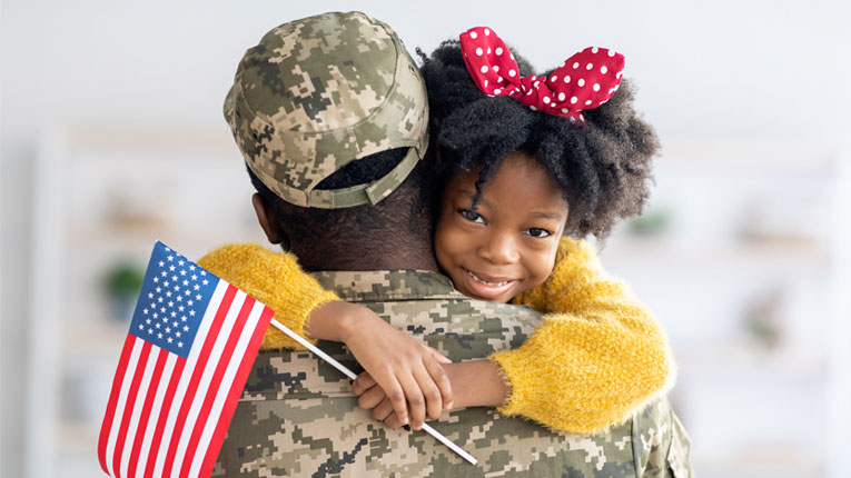
[[[452,385],[441,366],[449,359],[366,307],[328,302],[310,313],[307,332],[314,338],[344,342],[385,394],[399,425],[409,421],[419,429],[426,417],[436,419],[452,406]]]

